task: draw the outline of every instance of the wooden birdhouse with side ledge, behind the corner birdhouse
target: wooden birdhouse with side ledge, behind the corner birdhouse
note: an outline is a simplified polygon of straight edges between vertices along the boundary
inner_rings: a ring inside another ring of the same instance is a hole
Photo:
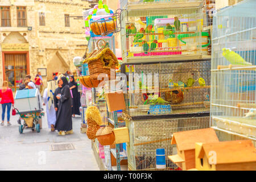
[[[174,133],[171,144],[177,145],[177,155],[170,155],[168,159],[177,164],[184,171],[193,169],[195,164],[195,143],[196,142],[219,142],[218,137],[212,128],[189,130]]]

